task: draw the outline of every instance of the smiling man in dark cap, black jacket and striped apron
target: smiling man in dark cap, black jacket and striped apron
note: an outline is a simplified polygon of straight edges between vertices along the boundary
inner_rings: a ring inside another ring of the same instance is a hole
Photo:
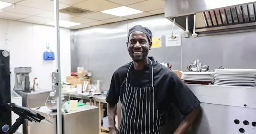
[[[200,102],[176,73],[148,57],[151,40],[152,32],[146,27],[129,30],[127,48],[132,62],[115,71],[106,96],[110,134],[170,134],[163,126],[171,103],[184,115],[174,134],[184,134],[200,111]],[[119,97],[122,118],[118,131]]]

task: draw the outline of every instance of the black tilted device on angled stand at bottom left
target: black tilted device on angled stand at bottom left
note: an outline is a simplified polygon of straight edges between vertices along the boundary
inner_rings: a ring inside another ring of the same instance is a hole
[[[20,116],[11,127],[9,127],[7,124],[2,126],[2,131],[6,132],[5,134],[14,134],[16,130],[18,130],[19,126],[24,123],[24,120],[40,122],[41,120],[45,119],[44,116],[41,116],[33,110],[23,106],[17,106],[14,103],[8,103],[5,106],[2,106],[1,109],[3,111],[12,110],[14,113]]]

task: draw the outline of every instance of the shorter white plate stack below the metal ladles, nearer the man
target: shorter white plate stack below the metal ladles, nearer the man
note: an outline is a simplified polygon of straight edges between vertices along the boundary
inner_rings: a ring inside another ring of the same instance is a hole
[[[182,72],[181,79],[187,84],[208,85],[214,80],[214,72]]]

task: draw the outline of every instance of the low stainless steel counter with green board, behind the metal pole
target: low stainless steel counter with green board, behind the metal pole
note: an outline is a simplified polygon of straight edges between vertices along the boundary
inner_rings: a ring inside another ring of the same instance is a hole
[[[36,109],[36,108],[32,108]],[[98,107],[96,106],[78,106],[76,111],[69,113],[62,113],[62,132],[63,134],[99,134],[98,128]],[[42,120],[40,123],[32,122],[30,125],[31,134],[57,134],[57,112],[54,112],[46,106],[42,106],[38,110],[35,110],[42,116],[46,117],[50,124],[46,120]],[[50,116],[48,118],[47,114]]]

